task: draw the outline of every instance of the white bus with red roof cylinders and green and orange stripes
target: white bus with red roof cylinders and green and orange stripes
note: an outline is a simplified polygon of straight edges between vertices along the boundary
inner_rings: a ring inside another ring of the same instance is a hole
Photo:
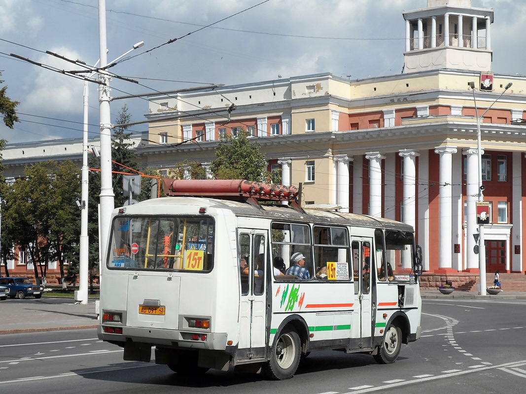
[[[156,364],[176,372],[287,379],[311,351],[389,364],[420,337],[411,226],[302,209],[292,186],[165,183],[172,196],[114,211],[100,268],[98,337],[125,360],[149,362],[154,347]],[[287,271],[275,269],[281,259]]]

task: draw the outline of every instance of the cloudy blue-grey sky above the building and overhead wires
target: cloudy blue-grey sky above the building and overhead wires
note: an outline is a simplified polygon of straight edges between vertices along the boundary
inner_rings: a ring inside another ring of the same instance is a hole
[[[526,2],[472,3],[495,11],[492,71],[526,75]],[[139,84],[114,78],[112,96],[243,84],[278,74],[331,72],[350,79],[400,74],[402,12],[426,6],[427,0],[107,0],[108,62],[145,42],[112,69]],[[97,0],[0,0],[1,86],[20,102],[22,120],[14,130],[0,125],[0,138],[10,143],[82,138],[84,82],[9,56],[79,69],[46,51],[93,65],[99,57]],[[97,86],[90,84],[93,135],[97,96]],[[134,98],[112,102],[112,122],[124,104],[131,121],[145,120],[148,103]]]

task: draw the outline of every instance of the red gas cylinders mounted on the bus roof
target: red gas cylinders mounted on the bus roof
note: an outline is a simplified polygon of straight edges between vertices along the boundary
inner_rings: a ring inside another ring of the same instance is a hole
[[[287,201],[292,208],[304,212],[298,203],[296,186],[231,179],[163,178],[163,191],[168,196],[208,197],[247,201],[261,208],[259,201]]]

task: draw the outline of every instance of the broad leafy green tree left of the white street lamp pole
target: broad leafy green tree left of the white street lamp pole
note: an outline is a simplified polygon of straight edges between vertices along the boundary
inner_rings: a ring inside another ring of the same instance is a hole
[[[13,243],[26,250],[37,283],[45,283],[47,266],[58,261],[64,278],[64,256],[79,236],[75,200],[79,170],[71,161],[42,162],[26,167],[24,178],[8,193],[8,226]]]

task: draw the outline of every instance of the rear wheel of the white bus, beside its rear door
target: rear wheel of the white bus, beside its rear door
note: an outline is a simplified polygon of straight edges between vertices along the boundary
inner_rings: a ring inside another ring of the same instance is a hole
[[[266,375],[275,380],[290,379],[298,369],[300,351],[298,333],[294,329],[282,331],[270,351],[270,360],[265,365]]]

